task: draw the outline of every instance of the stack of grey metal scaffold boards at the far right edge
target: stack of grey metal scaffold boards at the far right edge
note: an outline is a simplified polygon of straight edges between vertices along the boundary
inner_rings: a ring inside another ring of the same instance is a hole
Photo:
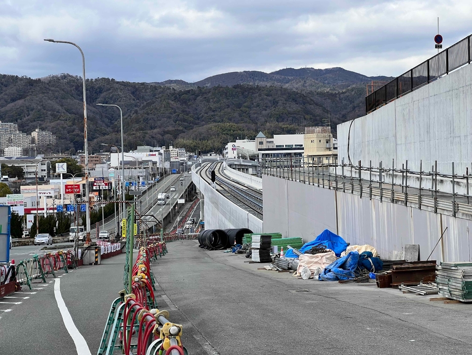
[[[462,302],[472,302],[472,262],[442,262],[436,268],[439,294]]]

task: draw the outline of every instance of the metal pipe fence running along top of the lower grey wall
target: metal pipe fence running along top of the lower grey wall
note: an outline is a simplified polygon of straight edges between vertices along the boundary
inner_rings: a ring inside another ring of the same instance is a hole
[[[262,174],[472,219],[472,169],[456,174],[451,164],[452,174],[442,174],[437,162],[428,170],[423,170],[420,163],[420,171],[413,171],[408,169],[408,161],[401,168],[384,168],[382,162],[374,167],[372,162],[368,166],[360,161],[358,165],[322,164],[312,162],[310,157],[297,161],[280,157],[263,159]]]

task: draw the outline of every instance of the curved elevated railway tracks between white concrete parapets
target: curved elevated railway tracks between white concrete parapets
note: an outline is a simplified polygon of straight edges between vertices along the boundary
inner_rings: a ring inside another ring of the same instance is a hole
[[[242,209],[262,219],[263,208],[261,192],[256,189],[251,189],[237,181],[230,180],[222,173],[222,167],[222,162],[208,163],[200,169],[199,175],[211,185],[211,171],[215,170],[216,183],[219,187],[217,191]]]

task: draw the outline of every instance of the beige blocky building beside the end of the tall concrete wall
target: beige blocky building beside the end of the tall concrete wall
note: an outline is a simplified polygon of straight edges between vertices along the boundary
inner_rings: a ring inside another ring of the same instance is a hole
[[[331,127],[306,127],[303,138],[305,162],[332,164],[338,162],[338,141]]]

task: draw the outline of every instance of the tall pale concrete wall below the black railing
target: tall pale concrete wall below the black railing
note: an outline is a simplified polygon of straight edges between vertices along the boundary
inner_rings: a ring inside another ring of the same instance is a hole
[[[412,93],[365,115],[338,125],[339,162],[464,174],[472,161],[472,66],[466,65]],[[348,138],[349,137],[349,138]]]

